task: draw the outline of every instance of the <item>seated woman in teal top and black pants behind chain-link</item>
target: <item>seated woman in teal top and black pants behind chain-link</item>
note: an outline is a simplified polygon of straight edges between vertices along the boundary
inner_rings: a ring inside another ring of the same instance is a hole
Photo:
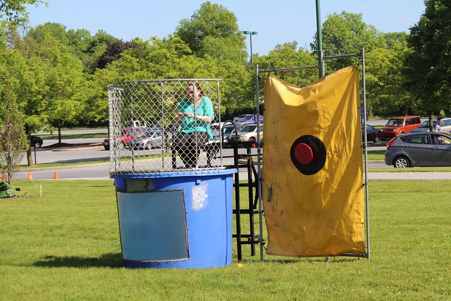
[[[212,139],[213,104],[197,81],[189,82],[185,90],[186,97],[177,106],[174,118],[175,122],[181,123],[174,147],[185,168],[196,168],[200,148]]]

